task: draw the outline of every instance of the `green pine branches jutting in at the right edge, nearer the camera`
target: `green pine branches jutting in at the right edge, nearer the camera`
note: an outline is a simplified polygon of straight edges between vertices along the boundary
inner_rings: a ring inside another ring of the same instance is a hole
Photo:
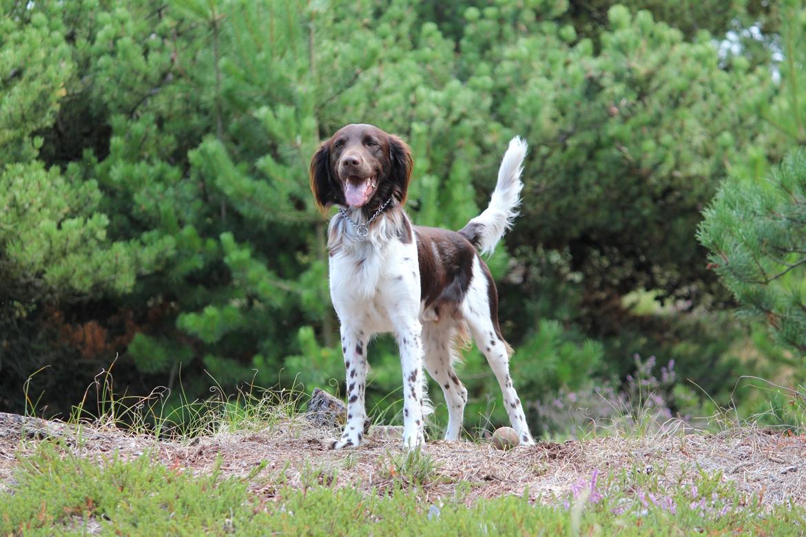
[[[704,216],[698,238],[743,312],[806,354],[806,151],[767,180],[725,185]]]

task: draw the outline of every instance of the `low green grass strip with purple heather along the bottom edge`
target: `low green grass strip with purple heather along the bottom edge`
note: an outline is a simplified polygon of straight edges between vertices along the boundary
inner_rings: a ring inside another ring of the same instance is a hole
[[[417,458],[419,457],[419,458]],[[413,485],[434,473],[426,455],[399,461],[399,486],[333,488],[310,469],[303,486],[282,477],[193,476],[147,455],[82,459],[44,443],[0,493],[0,535],[798,535],[800,506],[765,511],[721,475],[693,472],[693,485],[663,489],[653,474],[621,471],[575,484],[550,505],[506,496],[467,502],[469,487],[433,498]]]

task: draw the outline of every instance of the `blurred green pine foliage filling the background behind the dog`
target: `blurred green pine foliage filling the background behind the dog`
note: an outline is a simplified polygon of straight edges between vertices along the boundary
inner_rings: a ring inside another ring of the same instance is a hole
[[[521,217],[488,260],[521,399],[623,378],[634,353],[724,404],[739,374],[777,374],[695,234],[720,184],[803,143],[802,51],[783,39],[798,2],[783,23],[750,1],[0,6],[2,407],[50,366],[30,389],[65,411],[116,355],[120,390],[193,399],[209,374],[338,391],[307,169],[347,122],[409,142],[409,212],[452,229],[487,203],[509,138],[530,143]],[[397,350],[370,353],[369,407],[393,419]],[[465,357],[468,425],[501,422]]]

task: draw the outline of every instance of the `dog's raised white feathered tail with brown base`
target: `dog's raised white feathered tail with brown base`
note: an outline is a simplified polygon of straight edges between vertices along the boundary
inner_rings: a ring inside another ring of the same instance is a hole
[[[512,227],[517,217],[517,206],[521,204],[521,173],[523,159],[526,158],[526,142],[516,136],[509,141],[509,147],[498,168],[498,182],[492,191],[490,204],[484,213],[467,222],[459,233],[472,242],[483,254],[492,254],[496,244],[507,229]]]

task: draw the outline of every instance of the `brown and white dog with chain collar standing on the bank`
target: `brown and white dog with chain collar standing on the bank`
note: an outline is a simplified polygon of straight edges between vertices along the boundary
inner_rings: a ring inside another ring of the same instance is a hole
[[[411,224],[403,209],[413,161],[397,136],[372,125],[347,125],[322,143],[310,163],[320,208],[339,205],[330,220],[330,296],[341,321],[347,368],[347,424],[333,448],[363,440],[367,345],[393,333],[401,353],[403,444],[424,443],[430,412],[423,365],[445,394],[445,440],[458,440],[467,390],[453,366],[472,334],[487,357],[521,444],[534,444],[509,377],[512,349],[498,324],[498,291],[476,248],[492,252],[517,216],[526,143],[509,142],[490,204],[459,232]]]

